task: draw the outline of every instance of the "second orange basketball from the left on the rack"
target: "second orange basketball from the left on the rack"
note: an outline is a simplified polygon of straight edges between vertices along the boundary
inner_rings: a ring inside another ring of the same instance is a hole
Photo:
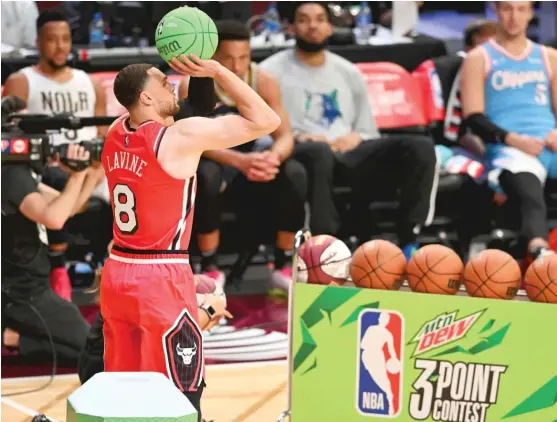
[[[420,248],[408,263],[408,284],[414,292],[454,295],[460,287],[464,264],[443,245]]]

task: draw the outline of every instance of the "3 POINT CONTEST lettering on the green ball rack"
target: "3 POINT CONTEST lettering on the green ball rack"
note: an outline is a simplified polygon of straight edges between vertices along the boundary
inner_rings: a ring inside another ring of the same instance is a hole
[[[507,370],[502,365],[427,359],[416,359],[414,367],[422,373],[412,384],[416,392],[410,394],[410,416],[442,422],[485,422]]]

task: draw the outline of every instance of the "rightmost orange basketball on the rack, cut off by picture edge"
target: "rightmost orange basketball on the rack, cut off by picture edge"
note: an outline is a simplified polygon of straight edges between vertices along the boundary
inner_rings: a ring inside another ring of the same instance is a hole
[[[524,276],[524,288],[534,302],[557,303],[557,255],[535,260]]]

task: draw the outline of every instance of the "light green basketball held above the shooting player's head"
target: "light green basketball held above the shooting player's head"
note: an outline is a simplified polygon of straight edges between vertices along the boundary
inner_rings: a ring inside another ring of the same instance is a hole
[[[196,7],[179,7],[159,22],[155,45],[164,61],[181,54],[195,54],[203,60],[213,57],[219,36],[215,22]]]

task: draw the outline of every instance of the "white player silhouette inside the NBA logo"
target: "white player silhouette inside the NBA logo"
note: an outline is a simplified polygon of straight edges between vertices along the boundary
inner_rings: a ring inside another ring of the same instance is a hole
[[[389,415],[393,415],[393,389],[387,375],[387,360],[383,352],[385,345],[387,345],[390,359],[393,359],[393,362],[395,362],[395,367],[400,365],[400,361],[395,353],[393,335],[387,330],[389,320],[389,314],[381,313],[379,315],[379,324],[370,326],[366,330],[361,341],[361,348],[362,362],[373,382],[385,393],[389,401]]]

